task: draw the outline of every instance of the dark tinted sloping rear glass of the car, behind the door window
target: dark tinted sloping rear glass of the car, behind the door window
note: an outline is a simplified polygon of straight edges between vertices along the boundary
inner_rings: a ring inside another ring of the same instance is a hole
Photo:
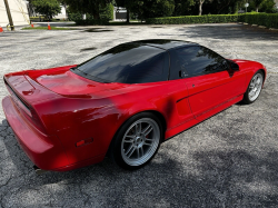
[[[78,66],[78,70],[96,81],[165,81],[165,50],[155,47],[120,44]]]

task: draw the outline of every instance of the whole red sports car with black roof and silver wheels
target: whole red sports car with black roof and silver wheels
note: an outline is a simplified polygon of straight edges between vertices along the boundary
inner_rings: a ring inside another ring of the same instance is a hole
[[[142,40],[79,66],[6,75],[10,96],[2,107],[42,170],[71,170],[106,156],[137,169],[161,141],[236,102],[254,102],[266,73],[259,62],[228,60],[198,43]]]

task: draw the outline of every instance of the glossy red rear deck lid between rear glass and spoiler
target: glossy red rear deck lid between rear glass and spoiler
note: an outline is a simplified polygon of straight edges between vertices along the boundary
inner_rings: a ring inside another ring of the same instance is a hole
[[[109,91],[111,92],[130,86],[117,82],[96,82],[71,72],[70,68],[72,67],[75,66],[32,70],[27,71],[27,75],[56,93],[76,98],[90,98],[92,95],[93,97],[103,96],[103,93],[109,93]]]

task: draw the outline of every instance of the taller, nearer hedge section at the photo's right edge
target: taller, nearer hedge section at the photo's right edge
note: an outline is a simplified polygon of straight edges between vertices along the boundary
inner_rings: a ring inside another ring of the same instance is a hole
[[[249,24],[278,29],[278,13],[242,14],[239,20]]]

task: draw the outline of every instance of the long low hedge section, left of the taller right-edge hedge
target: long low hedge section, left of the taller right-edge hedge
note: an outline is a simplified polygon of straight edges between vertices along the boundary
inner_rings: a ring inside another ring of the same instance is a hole
[[[146,23],[150,24],[181,24],[181,23],[227,23],[237,22],[240,14],[219,14],[219,16],[182,16],[167,18],[150,18]]]

